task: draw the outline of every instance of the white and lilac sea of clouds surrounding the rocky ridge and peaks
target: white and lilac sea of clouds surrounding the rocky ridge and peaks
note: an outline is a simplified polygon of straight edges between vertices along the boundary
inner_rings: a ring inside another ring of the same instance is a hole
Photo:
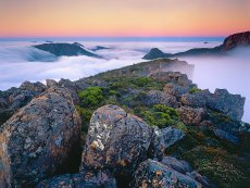
[[[67,41],[68,42],[68,41]],[[73,41],[72,41],[73,42]],[[79,42],[79,41],[78,41]],[[110,49],[96,53],[104,59],[88,57],[57,58],[35,49],[42,42],[0,41],[0,90],[18,87],[23,82],[45,82],[47,78],[76,80],[100,72],[142,62],[141,58],[151,49],[159,48],[175,53],[191,48],[212,48],[217,41],[204,42],[80,42],[86,48],[103,46]],[[226,88],[232,93],[247,98],[243,121],[250,122],[250,49],[238,50],[227,58],[182,58],[195,64],[193,83],[202,89]]]

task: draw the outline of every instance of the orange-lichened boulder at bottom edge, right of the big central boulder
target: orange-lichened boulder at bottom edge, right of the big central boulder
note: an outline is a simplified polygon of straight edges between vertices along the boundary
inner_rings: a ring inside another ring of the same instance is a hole
[[[133,175],[130,188],[135,187],[201,188],[201,185],[189,176],[180,174],[160,162],[147,160],[139,165]]]

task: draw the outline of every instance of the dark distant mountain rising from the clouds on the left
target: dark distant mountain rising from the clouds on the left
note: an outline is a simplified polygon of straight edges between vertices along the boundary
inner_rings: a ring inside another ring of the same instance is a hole
[[[92,58],[101,58],[98,54],[95,54],[90,50],[84,48],[80,43],[42,43],[36,45],[35,48],[50,52],[57,57],[76,57],[76,55],[86,55]]]

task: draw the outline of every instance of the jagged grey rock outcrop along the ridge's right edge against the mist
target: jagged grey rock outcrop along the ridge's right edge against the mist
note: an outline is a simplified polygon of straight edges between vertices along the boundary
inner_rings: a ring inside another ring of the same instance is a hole
[[[240,95],[232,95],[226,89],[215,89],[214,93],[211,93],[208,89],[200,90],[197,88],[196,84],[192,84],[192,82],[188,79],[187,75],[179,72],[160,72],[151,76],[166,83],[163,92],[166,93],[165,100],[168,101],[168,104],[166,102],[167,105],[172,104],[172,106],[174,106],[173,102],[168,100],[172,96],[176,99],[175,103],[178,105],[186,105],[195,109],[202,108],[204,110],[210,109],[227,115],[235,121],[240,121],[243,115],[246,99]],[[161,91],[158,91],[158,95],[155,92],[152,93],[154,93],[154,102],[160,103],[164,101],[160,100],[161,97],[164,96],[160,95]],[[150,102],[153,100],[147,101]],[[174,108],[176,108],[176,105]],[[196,124],[198,124],[198,122]]]

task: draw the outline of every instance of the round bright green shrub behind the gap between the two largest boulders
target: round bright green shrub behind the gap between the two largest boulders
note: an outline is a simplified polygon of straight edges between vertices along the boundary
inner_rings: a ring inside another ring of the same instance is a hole
[[[89,87],[79,92],[79,99],[83,106],[95,108],[103,101],[104,97],[100,87]]]

